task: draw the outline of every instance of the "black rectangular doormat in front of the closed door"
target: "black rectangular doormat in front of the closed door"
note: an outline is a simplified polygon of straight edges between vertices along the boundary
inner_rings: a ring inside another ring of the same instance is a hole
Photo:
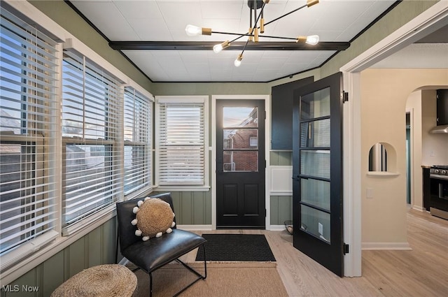
[[[207,239],[207,261],[275,261],[262,234],[202,234]],[[204,247],[197,250],[196,261],[204,261]]]

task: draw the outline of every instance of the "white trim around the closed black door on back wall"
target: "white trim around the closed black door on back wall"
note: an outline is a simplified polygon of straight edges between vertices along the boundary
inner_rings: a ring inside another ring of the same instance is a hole
[[[211,95],[211,229],[216,230],[216,100],[264,100],[265,101],[265,207],[266,207],[266,230],[270,225],[270,189],[269,189],[269,149],[271,129],[271,96],[267,95]]]

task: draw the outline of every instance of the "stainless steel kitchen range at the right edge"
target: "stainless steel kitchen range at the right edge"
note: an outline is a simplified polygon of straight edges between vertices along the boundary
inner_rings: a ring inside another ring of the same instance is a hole
[[[429,178],[431,215],[448,219],[448,166],[432,166]]]

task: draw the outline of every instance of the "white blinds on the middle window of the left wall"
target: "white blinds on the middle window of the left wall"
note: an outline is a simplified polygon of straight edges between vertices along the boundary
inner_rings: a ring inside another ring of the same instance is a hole
[[[120,82],[64,50],[62,73],[64,227],[115,203],[120,179]]]

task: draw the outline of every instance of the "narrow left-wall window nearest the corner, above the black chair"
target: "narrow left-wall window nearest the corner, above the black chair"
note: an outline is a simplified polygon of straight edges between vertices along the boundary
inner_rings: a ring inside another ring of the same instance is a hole
[[[153,185],[153,102],[125,87],[125,195]]]

